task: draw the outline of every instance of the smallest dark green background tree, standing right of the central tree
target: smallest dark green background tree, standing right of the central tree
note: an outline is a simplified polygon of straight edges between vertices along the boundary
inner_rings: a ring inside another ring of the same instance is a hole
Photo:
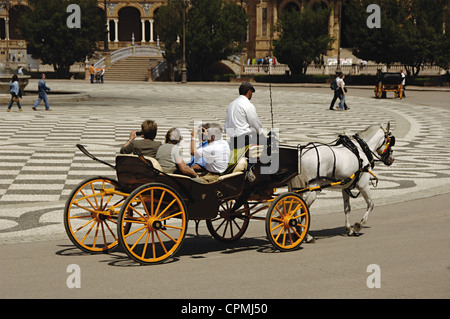
[[[274,41],[273,53],[293,74],[305,74],[308,65],[330,48],[329,16],[329,8],[313,10],[308,6],[301,12],[286,10],[281,15],[278,25],[281,36]]]

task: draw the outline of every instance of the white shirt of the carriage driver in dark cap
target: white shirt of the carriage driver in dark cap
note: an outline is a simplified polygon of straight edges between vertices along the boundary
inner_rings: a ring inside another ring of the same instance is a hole
[[[229,137],[249,134],[252,131],[262,133],[255,106],[245,95],[240,95],[228,105],[225,118],[225,133]]]

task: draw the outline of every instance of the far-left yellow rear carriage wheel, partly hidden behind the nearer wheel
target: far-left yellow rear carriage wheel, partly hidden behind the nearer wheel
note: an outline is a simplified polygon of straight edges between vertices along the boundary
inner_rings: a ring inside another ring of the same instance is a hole
[[[117,216],[128,194],[112,179],[96,177],[81,182],[64,209],[64,227],[75,246],[89,253],[106,253],[118,244]]]

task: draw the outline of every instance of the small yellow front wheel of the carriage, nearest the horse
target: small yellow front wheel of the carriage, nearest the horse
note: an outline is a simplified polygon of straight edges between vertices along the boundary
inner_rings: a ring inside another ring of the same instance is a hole
[[[309,224],[309,210],[300,195],[284,193],[275,198],[267,211],[267,238],[281,251],[294,250],[303,242]]]

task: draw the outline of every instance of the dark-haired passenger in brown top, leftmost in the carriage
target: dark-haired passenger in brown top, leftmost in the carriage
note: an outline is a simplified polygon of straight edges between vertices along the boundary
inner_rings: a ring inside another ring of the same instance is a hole
[[[158,131],[158,125],[152,120],[146,120],[141,124],[141,132],[131,131],[130,139],[120,149],[120,154],[132,154],[135,149],[141,151],[142,155],[155,157],[161,142],[153,139]],[[140,135],[143,139],[135,140]]]

